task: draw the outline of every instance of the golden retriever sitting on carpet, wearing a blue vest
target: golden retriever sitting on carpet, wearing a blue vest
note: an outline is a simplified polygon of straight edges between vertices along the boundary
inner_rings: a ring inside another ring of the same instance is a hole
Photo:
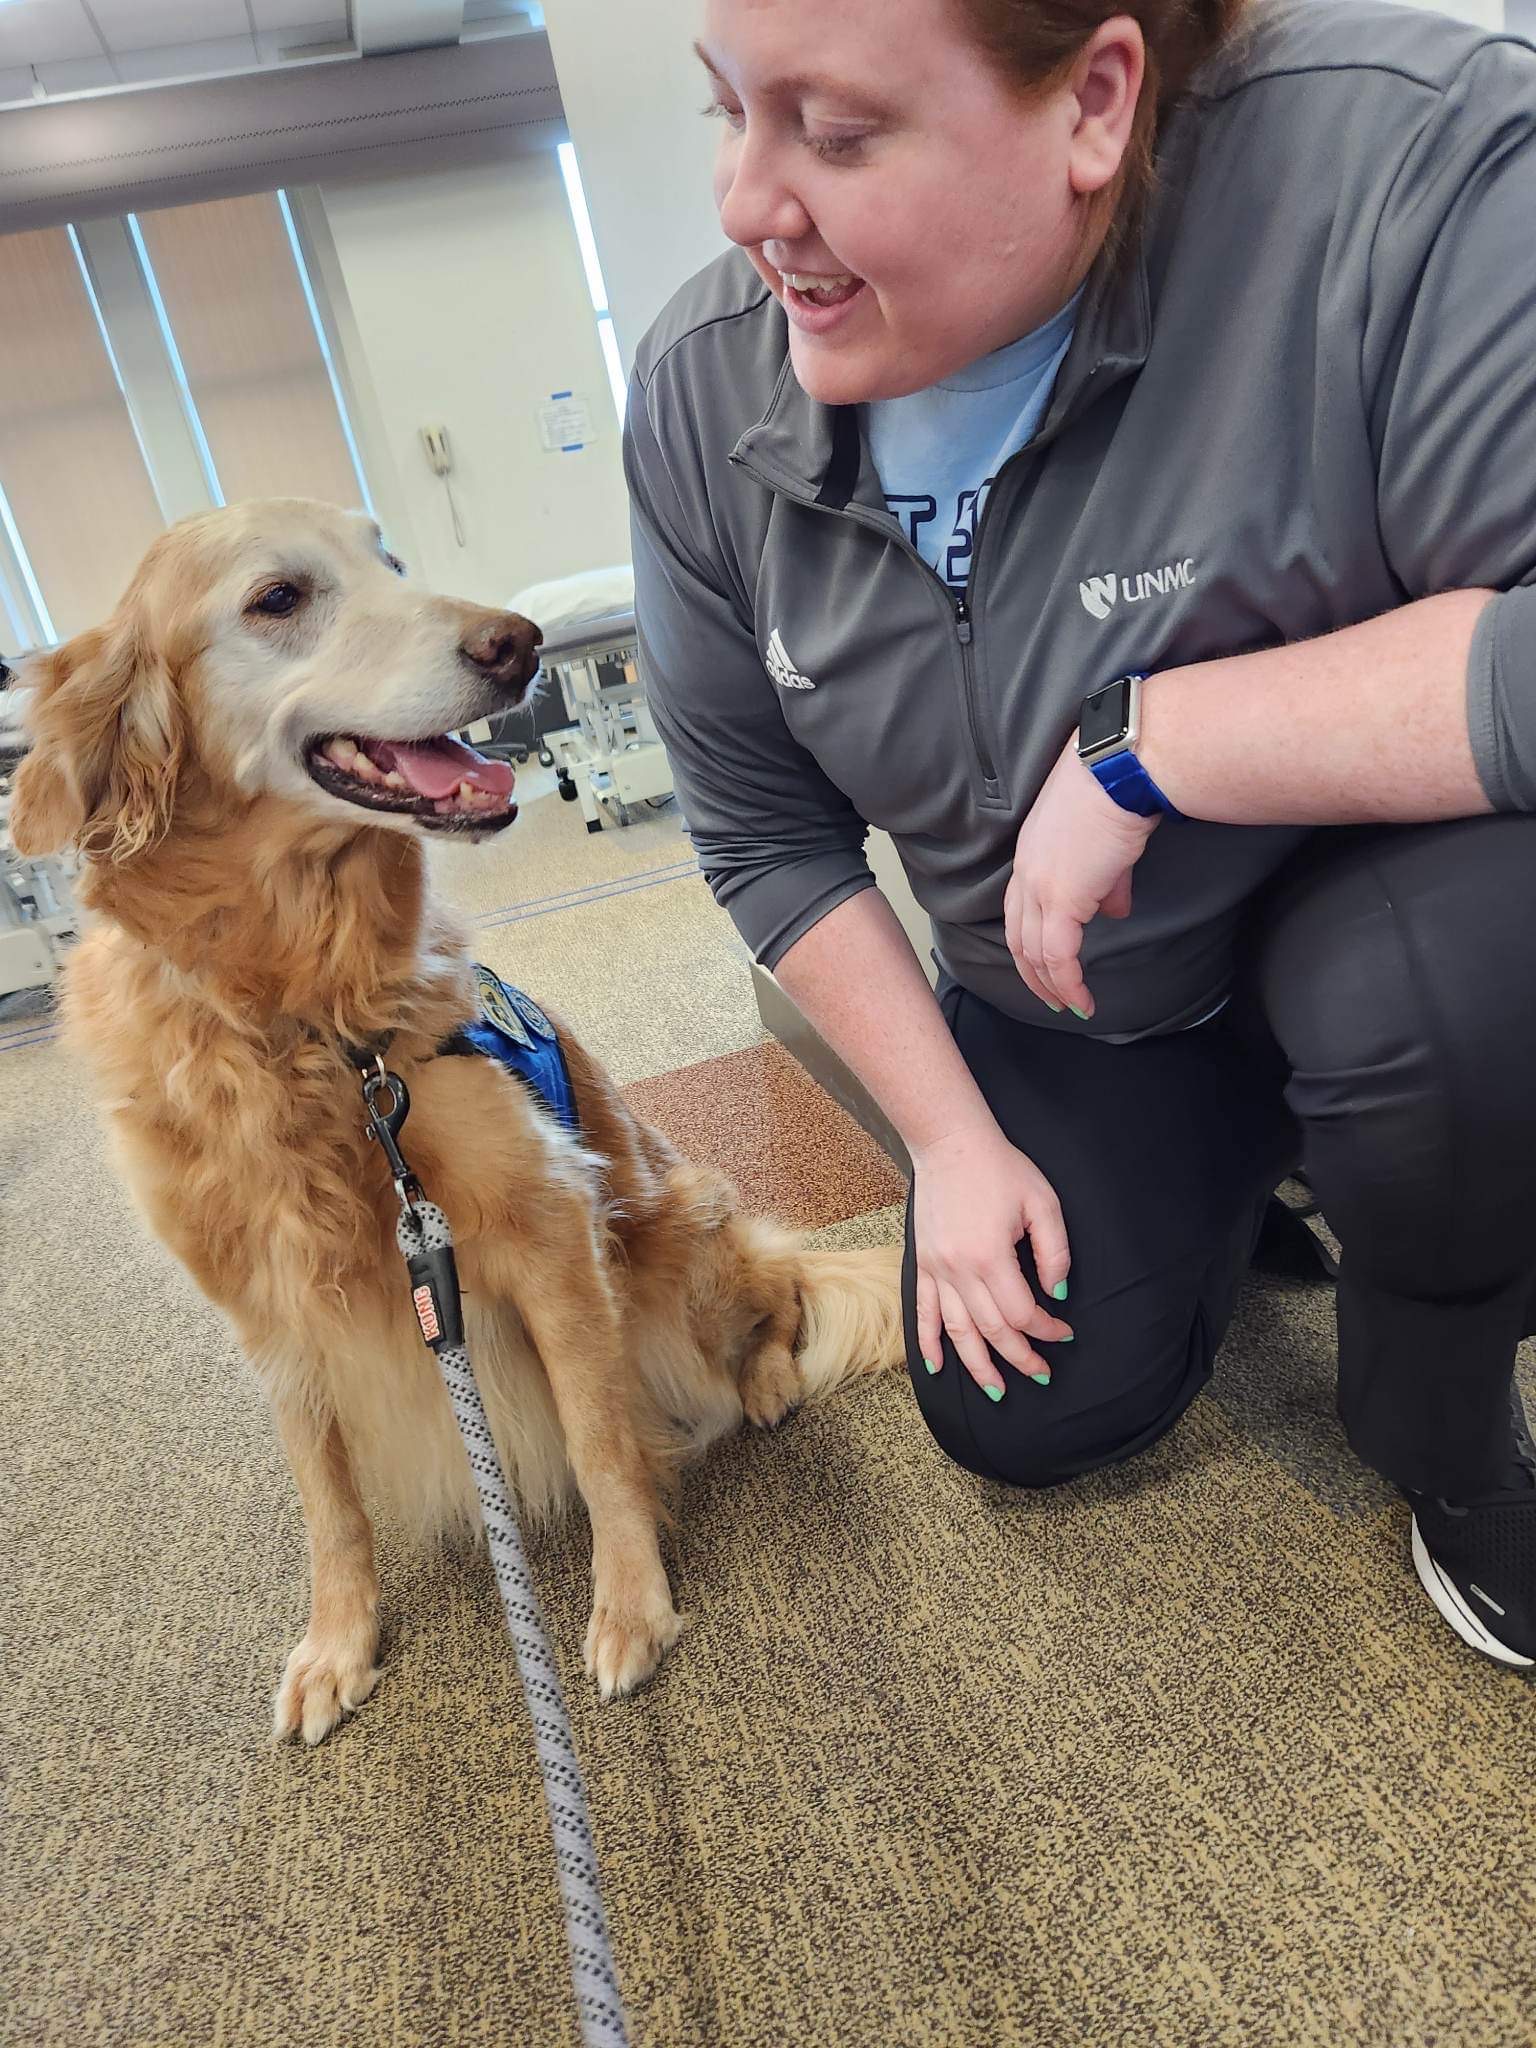
[[[276,1735],[319,1741],[377,1681],[362,1505],[477,1526],[412,1311],[397,1202],[346,1042],[410,1087],[406,1153],[449,1214],[504,1470],[592,1524],[604,1698],[676,1640],[657,1524],[680,1460],[743,1417],[903,1356],[899,1253],[809,1251],[745,1217],[561,1030],[580,1137],[487,1057],[426,834],[512,823],[510,774],[446,735],[520,702],[539,633],[428,596],[379,528],[301,500],[184,520],[113,618],[35,659],[12,834],[84,856],[63,1010],[152,1227],[260,1376],[309,1536],[309,1628]]]

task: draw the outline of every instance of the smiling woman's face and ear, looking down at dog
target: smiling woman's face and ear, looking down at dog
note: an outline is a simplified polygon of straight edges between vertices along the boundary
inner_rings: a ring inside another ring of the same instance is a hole
[[[899,397],[1077,289],[1102,240],[1083,201],[1120,180],[1145,43],[1118,16],[1075,47],[1094,119],[1067,127],[1059,94],[1024,96],[926,0],[817,10],[809,41],[801,14],[754,10],[743,35],[731,0],[707,10],[721,225],[782,303],[811,397]]]

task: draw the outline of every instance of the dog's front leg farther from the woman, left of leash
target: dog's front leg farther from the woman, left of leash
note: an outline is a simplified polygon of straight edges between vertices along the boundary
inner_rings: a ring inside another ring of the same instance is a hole
[[[317,1743],[342,1714],[362,1706],[379,1681],[373,1528],[336,1419],[315,1415],[297,1389],[279,1386],[272,1405],[309,1538],[309,1628],[276,1690],[272,1735]]]

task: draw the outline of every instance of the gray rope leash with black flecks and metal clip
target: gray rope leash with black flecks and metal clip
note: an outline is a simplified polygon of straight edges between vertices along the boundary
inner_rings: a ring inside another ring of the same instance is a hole
[[[422,1325],[422,1337],[436,1356],[469,1470],[475,1475],[485,1540],[492,1550],[506,1624],[512,1630],[522,1698],[528,1702],[539,1774],[545,1784],[549,1827],[555,1837],[555,1872],[565,1909],[565,1939],[571,1952],[571,1985],[582,2044],[584,2048],[629,2048],[625,2003],[608,1942],[608,1917],[602,1911],[598,1851],[592,1841],[586,1784],[575,1757],[559,1669],[549,1649],[539,1595],[522,1550],[516,1503],[485,1421],[485,1403],[475,1384],[475,1370],[469,1364],[459,1274],[453,1260],[453,1231],[436,1202],[422,1198],[420,1182],[399,1151],[399,1126],[410,1112],[406,1083],[399,1075],[387,1073],[377,1055],[350,1047],[346,1051],[362,1075],[369,1128],[383,1145],[395,1178],[395,1194],[399,1196],[395,1239],[410,1272],[412,1307]],[[387,1110],[379,1104],[385,1094],[391,1098]]]

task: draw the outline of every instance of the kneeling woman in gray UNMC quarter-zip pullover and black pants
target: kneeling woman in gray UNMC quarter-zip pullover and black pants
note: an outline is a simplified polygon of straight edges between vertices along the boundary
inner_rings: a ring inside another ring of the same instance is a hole
[[[930,1430],[1020,1487],[1157,1440],[1305,1159],[1350,1438],[1528,1665],[1536,51],[1376,0],[711,0],[698,51],[739,252],[637,360],[647,678],[911,1151]]]

